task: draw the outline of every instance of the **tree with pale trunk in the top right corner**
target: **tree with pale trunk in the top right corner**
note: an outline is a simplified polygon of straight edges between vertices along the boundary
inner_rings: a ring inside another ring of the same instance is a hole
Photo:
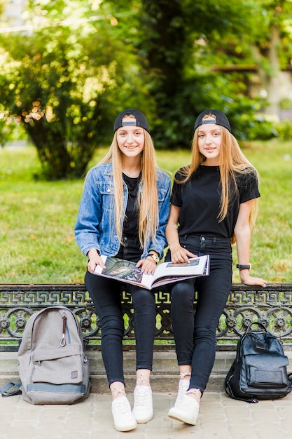
[[[242,36],[228,33],[220,38],[207,39],[207,60],[210,60],[210,55],[213,59],[215,54],[220,55],[216,57],[216,66],[221,74],[228,66],[234,70],[237,67],[243,70],[245,66],[246,71],[251,67],[256,71],[259,88],[265,97],[256,97],[262,106],[260,111],[275,119],[282,98],[279,93],[281,72],[291,65],[292,3],[290,0],[258,0],[246,2],[246,6],[250,13],[242,16],[247,20],[249,32]],[[200,61],[204,62],[202,57]],[[232,81],[232,76],[228,75],[228,78]]]

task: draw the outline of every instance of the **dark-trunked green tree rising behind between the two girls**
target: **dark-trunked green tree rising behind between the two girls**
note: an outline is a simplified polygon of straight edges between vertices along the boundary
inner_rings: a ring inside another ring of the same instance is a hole
[[[231,119],[232,101],[234,107],[240,102],[245,111],[254,109],[244,95],[243,77],[230,81],[218,75],[212,63],[220,54],[209,50],[213,41],[250,33],[251,2],[142,0],[142,5],[139,53],[157,104],[156,144],[188,147],[194,116],[206,107],[220,107]]]

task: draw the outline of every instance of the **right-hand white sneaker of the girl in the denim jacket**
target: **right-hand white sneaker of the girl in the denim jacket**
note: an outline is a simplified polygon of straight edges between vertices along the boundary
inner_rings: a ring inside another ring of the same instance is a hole
[[[134,389],[133,414],[138,424],[145,424],[153,418],[152,390],[149,386]]]

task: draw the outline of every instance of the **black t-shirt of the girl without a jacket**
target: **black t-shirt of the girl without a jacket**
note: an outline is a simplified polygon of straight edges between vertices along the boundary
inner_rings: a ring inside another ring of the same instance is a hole
[[[183,180],[179,172],[176,180]],[[238,196],[234,184],[233,196],[228,205],[228,215],[218,221],[221,198],[221,179],[218,166],[199,166],[184,184],[174,182],[172,204],[181,208],[179,215],[179,236],[206,235],[231,238],[238,217],[239,205],[258,198],[258,180],[254,173],[236,175]],[[233,186],[233,187],[232,187]]]

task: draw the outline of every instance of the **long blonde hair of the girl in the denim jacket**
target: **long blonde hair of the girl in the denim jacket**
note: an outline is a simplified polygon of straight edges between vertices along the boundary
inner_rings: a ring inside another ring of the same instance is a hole
[[[144,130],[144,128],[142,128]],[[144,149],[141,156],[141,182],[139,183],[137,196],[137,210],[139,212],[138,227],[141,248],[152,238],[155,241],[156,231],[159,224],[158,213],[158,190],[156,171],[158,169],[155,149],[151,135],[144,130]],[[123,222],[125,214],[123,209],[123,153],[117,142],[117,134],[113,135],[111,147],[102,159],[101,163],[112,163],[113,166],[113,200],[116,215],[116,231],[120,243],[123,243]]]

